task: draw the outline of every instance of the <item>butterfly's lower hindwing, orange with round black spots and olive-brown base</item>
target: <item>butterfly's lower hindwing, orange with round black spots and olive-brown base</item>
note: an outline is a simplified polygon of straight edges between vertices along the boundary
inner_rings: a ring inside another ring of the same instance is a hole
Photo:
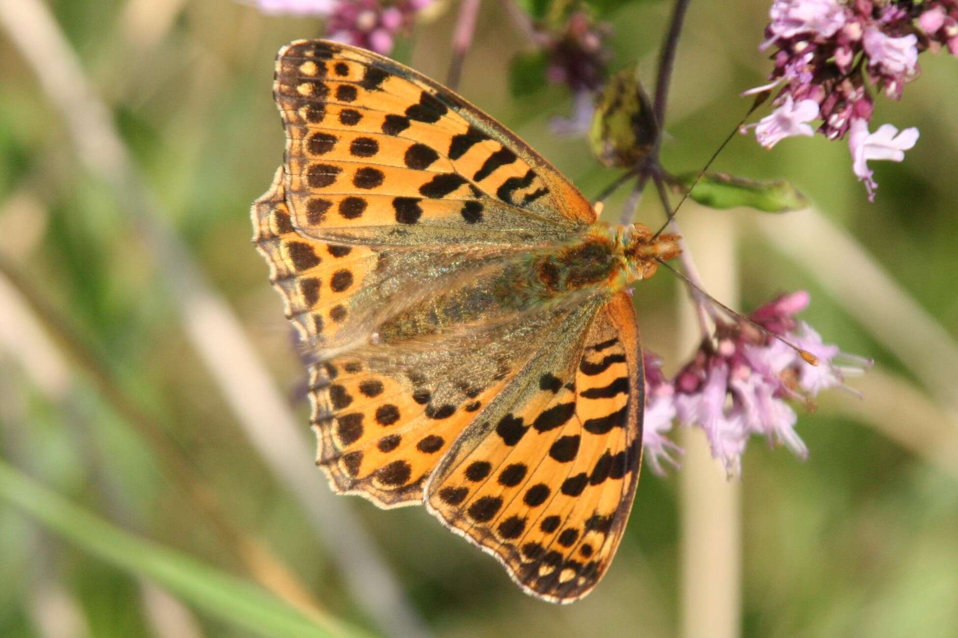
[[[424,482],[469,424],[500,421],[538,366],[561,358],[547,336],[582,333],[588,313],[534,313],[496,325],[494,340],[400,341],[313,366],[318,463],[339,492],[382,507],[421,503]]]

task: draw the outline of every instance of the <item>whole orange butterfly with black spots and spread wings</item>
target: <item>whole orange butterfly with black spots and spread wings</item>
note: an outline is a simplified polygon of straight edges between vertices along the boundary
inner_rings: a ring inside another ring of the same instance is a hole
[[[502,124],[386,57],[298,40],[273,91],[285,157],[254,242],[308,353],[331,488],[423,504],[527,593],[581,598],[642,458],[625,287],[677,238],[597,223]]]

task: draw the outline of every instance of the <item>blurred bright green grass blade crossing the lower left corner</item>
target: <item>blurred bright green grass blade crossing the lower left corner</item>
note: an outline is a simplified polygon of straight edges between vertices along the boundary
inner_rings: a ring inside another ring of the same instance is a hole
[[[137,539],[95,517],[0,460],[0,499],[122,569],[159,583],[185,603],[219,620],[264,636],[301,638],[363,635],[329,621],[319,627],[299,610],[253,583],[202,564],[148,540]]]

